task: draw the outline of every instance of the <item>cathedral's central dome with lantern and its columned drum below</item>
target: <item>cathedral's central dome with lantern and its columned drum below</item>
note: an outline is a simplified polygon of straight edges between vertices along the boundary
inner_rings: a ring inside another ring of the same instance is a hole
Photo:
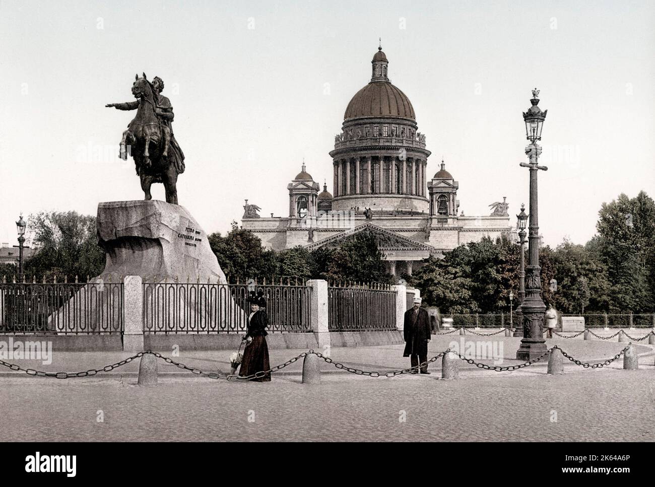
[[[381,47],[371,64],[371,81],[348,103],[343,132],[335,137],[330,153],[332,208],[427,213],[430,151],[424,135],[417,132],[414,107],[388,79],[388,60]]]

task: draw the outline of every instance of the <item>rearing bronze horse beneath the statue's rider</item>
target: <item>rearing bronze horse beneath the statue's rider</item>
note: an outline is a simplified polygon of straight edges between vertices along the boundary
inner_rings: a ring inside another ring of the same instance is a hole
[[[163,183],[166,189],[166,203],[178,204],[178,166],[172,158],[162,157],[162,122],[155,114],[157,95],[153,85],[143,77],[136,75],[132,84],[134,98],[140,100],[136,117],[122,134],[119,157],[127,160],[130,147],[136,173],[141,179],[141,189],[145,200],[153,198],[150,187],[153,183]]]

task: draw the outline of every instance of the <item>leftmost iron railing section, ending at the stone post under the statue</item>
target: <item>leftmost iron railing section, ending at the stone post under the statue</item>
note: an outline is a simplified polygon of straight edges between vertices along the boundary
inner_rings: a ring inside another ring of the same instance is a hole
[[[120,334],[122,283],[2,283],[0,333]]]

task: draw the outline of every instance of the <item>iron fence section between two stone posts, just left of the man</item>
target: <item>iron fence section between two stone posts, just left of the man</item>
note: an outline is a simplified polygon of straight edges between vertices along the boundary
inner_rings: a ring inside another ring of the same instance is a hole
[[[329,331],[396,330],[396,291],[388,285],[328,285]]]

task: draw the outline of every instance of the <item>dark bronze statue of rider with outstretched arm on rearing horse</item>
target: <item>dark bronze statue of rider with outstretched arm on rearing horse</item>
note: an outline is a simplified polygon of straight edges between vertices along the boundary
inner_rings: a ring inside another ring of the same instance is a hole
[[[119,157],[127,160],[132,154],[136,174],[141,179],[145,200],[153,198],[150,187],[162,183],[166,189],[166,203],[178,204],[178,175],[184,172],[184,154],[173,134],[173,107],[162,96],[164,82],[160,77],[148,81],[135,76],[132,94],[136,101],[108,103],[105,107],[118,110],[136,110],[136,117],[123,132]]]

